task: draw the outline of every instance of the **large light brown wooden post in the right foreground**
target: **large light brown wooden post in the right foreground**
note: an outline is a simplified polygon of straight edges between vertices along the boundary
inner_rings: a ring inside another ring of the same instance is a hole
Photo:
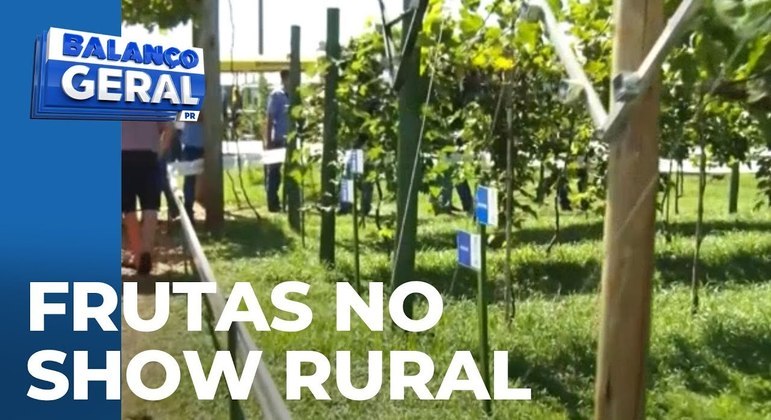
[[[662,0],[615,0],[613,74],[634,71],[663,26]],[[608,157],[605,262],[595,418],[640,420],[654,268],[660,77],[643,92]],[[611,98],[613,95],[611,95]],[[620,106],[614,103],[613,108]]]

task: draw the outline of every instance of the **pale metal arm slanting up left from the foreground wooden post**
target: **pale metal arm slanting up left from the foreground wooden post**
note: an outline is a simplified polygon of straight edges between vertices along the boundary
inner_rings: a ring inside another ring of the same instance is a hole
[[[602,105],[600,96],[589,81],[589,77],[586,76],[586,72],[581,63],[579,63],[578,58],[576,58],[570,42],[559,28],[557,18],[554,16],[554,12],[552,12],[549,4],[545,0],[525,1],[522,4],[519,16],[528,22],[537,22],[539,20],[543,22],[554,50],[557,52],[557,56],[559,56],[562,65],[570,77],[568,81],[563,81],[560,85],[560,100],[569,102],[569,100],[575,99],[579,92],[583,91],[587,107],[589,108],[589,115],[592,117],[595,127],[603,127],[608,119],[605,106]]]

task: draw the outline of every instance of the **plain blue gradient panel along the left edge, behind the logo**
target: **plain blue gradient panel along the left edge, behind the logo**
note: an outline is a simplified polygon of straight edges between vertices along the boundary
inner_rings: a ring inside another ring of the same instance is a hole
[[[36,37],[51,26],[120,35],[121,3],[110,1],[15,2],[0,27],[3,163],[0,183],[0,316],[3,418],[110,420],[120,418],[120,401],[106,401],[103,383],[92,383],[87,401],[69,393],[51,402],[27,397],[33,383],[27,360],[34,352],[67,353],[56,367],[72,382],[72,352],[89,351],[89,364],[104,367],[105,352],[120,350],[120,332],[73,332],[71,295],[67,315],[46,317],[46,331],[29,331],[29,283],[98,281],[120,290],[120,123],[31,120]],[[70,290],[72,285],[70,285]],[[113,314],[120,325],[120,310]]]

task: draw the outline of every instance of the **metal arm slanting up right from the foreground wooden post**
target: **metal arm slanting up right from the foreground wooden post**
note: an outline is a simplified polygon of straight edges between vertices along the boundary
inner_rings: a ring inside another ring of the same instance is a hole
[[[610,142],[618,137],[637,99],[648,90],[653,79],[659,74],[667,54],[686,31],[703,4],[703,0],[683,0],[667,21],[667,26],[664,27],[640,67],[634,72],[622,72],[613,77],[614,99],[617,106],[614,107],[607,122],[597,130],[597,137],[600,140]]]

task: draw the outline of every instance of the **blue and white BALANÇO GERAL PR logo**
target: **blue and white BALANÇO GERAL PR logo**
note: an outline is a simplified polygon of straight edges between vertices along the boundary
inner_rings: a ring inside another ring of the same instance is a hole
[[[203,50],[50,28],[35,42],[31,118],[198,121]]]

